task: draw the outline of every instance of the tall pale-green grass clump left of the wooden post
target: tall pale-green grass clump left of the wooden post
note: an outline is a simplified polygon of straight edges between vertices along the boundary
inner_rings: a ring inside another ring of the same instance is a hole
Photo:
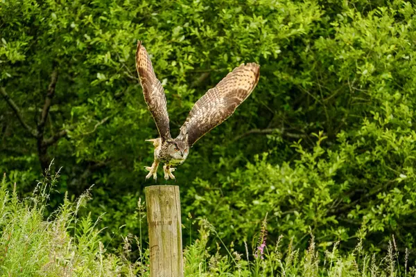
[[[19,200],[16,184],[10,193],[6,175],[0,186],[1,276],[136,276],[146,260],[130,262],[129,244],[119,256],[105,253],[90,216],[78,217],[89,192],[64,203],[44,220],[59,172],[40,181],[31,197]]]

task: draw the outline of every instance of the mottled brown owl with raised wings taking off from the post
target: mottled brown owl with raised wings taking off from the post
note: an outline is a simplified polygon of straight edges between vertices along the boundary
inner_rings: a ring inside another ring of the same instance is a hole
[[[172,139],[164,89],[157,80],[150,57],[140,41],[137,42],[136,69],[144,100],[159,131],[159,138],[146,140],[152,142],[155,147],[155,159],[152,166],[146,167],[149,171],[146,179],[153,176],[155,180],[160,162],[164,163],[164,178],[175,179],[172,174],[175,171],[174,166],[184,163],[192,145],[229,118],[236,107],[250,96],[259,82],[260,74],[259,64],[248,63],[236,67],[216,87],[209,89],[196,101],[184,125],[180,127],[180,134],[176,139]]]

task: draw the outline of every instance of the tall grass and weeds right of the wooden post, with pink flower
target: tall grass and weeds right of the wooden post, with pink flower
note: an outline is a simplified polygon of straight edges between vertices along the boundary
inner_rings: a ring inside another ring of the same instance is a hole
[[[214,226],[207,221],[200,224],[200,238],[184,251],[185,276],[416,276],[415,267],[408,268],[408,250],[404,253],[404,265],[399,266],[399,251],[394,238],[390,241],[383,258],[363,250],[360,237],[355,249],[348,254],[340,254],[339,244],[333,244],[331,251],[320,253],[315,248],[315,239],[311,234],[309,248],[306,251],[293,249],[293,242],[281,246],[280,236],[275,243],[266,243],[266,230],[263,227],[259,240],[250,251],[237,253],[232,245],[227,247],[217,244],[216,253],[207,249],[210,233],[218,236]],[[359,234],[363,235],[363,234]],[[221,256],[220,248],[227,248],[231,255]]]

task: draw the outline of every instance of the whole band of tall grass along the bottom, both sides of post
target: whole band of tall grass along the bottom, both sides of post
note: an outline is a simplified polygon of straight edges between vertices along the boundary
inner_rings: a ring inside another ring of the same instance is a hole
[[[88,191],[75,202],[66,199],[45,218],[59,172],[46,176],[25,199],[18,199],[16,184],[10,186],[6,175],[1,181],[0,276],[149,276],[148,250],[146,244],[141,247],[141,238],[123,238],[120,250],[109,253],[99,240],[97,222],[78,217]],[[258,242],[252,248],[246,245],[245,253],[237,253],[232,245],[209,249],[210,234],[221,241],[214,226],[201,220],[198,239],[184,249],[185,276],[416,276],[407,265],[407,251],[399,262],[394,239],[385,257],[376,258],[363,251],[361,240],[347,255],[339,253],[338,244],[331,252],[318,252],[313,236],[306,251],[293,249],[293,243],[281,247],[281,238],[269,243],[266,220]],[[135,260],[130,258],[132,243],[143,249]],[[221,247],[227,255],[220,254]]]

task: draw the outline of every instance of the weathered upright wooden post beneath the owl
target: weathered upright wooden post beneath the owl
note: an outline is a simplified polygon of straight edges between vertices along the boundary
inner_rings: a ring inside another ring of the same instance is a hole
[[[182,277],[182,225],[179,186],[145,188],[150,277]]]

